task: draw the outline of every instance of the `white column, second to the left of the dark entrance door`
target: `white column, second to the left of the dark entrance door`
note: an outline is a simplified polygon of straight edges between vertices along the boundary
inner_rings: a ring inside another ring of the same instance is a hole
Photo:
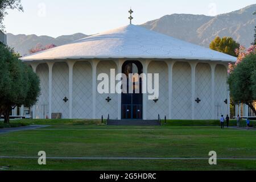
[[[97,92],[97,65],[100,61],[98,60],[92,60],[92,108],[93,108],[93,113],[92,113],[92,118],[96,119],[96,92]]]

